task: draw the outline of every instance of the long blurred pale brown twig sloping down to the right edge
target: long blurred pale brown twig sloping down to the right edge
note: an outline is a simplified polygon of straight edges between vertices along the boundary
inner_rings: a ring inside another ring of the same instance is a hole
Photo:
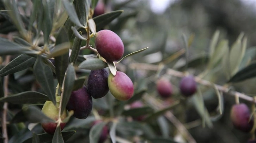
[[[131,63],[130,68],[157,71],[158,70],[158,65],[147,64],[147,63]],[[185,74],[183,72],[176,71],[176,70],[173,70],[173,69],[170,69],[170,68],[168,68],[166,72],[169,75],[173,75],[173,76],[177,76],[177,77],[184,77],[185,76]],[[213,84],[212,82],[207,81],[207,80],[203,80],[198,76],[195,76],[195,81],[202,84],[202,85],[208,86],[208,87],[211,87],[211,86],[214,85],[214,86],[217,87],[218,90],[223,91],[224,93],[226,93],[228,95],[238,96],[239,98],[242,98],[244,100],[250,101],[252,103],[256,103],[256,101],[253,99],[253,97],[250,97],[250,96],[245,95],[243,93],[239,93],[237,91],[230,91],[228,89],[228,87],[221,86],[221,85],[218,85],[218,84]]]

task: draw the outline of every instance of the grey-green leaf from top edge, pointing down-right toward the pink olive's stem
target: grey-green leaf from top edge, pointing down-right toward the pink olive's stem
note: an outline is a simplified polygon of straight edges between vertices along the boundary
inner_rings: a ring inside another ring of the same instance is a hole
[[[85,28],[85,26],[81,25],[78,16],[77,16],[77,12],[75,11],[75,7],[72,3],[70,3],[69,1],[62,1],[63,5],[66,9],[66,11],[68,12],[69,18],[72,22],[75,23],[75,25],[79,26],[79,27],[83,27]]]

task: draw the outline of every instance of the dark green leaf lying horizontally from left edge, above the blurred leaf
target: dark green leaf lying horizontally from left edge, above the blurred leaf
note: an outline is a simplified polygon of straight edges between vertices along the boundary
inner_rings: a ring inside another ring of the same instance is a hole
[[[22,93],[9,95],[7,97],[0,98],[1,102],[8,102],[13,104],[33,104],[38,102],[45,102],[49,100],[47,95],[36,91],[25,91]]]

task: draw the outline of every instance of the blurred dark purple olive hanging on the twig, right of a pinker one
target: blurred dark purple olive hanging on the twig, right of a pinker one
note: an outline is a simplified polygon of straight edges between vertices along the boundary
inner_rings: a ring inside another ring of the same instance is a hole
[[[196,93],[196,81],[194,77],[192,75],[183,77],[179,84],[179,88],[181,93],[186,97],[189,97]]]

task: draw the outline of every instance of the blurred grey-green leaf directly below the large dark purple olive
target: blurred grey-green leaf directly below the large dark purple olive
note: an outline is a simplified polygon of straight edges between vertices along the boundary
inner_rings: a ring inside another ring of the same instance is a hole
[[[95,121],[94,116],[89,116],[84,119],[78,119],[78,118],[73,118],[68,124],[65,126],[63,130],[71,130],[71,129],[84,129],[84,128],[90,128],[92,122]]]

